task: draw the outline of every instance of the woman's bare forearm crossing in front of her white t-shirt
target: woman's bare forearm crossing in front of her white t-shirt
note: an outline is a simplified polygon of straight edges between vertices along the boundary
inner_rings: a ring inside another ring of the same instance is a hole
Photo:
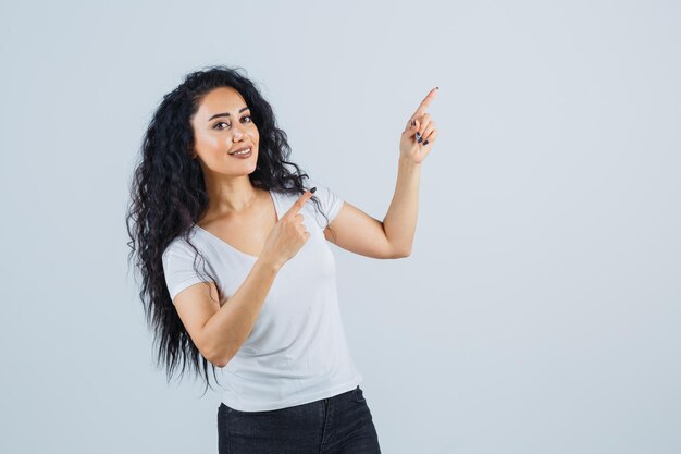
[[[224,367],[248,339],[280,268],[258,258],[234,295],[203,327],[215,365]]]

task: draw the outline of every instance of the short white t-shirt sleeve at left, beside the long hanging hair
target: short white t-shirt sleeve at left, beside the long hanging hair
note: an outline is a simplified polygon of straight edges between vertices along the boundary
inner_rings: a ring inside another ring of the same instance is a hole
[[[194,269],[195,256],[194,249],[178,240],[173,241],[163,251],[163,274],[173,304],[175,296],[188,286],[213,281],[203,272],[205,262],[200,257],[196,259],[199,273]]]

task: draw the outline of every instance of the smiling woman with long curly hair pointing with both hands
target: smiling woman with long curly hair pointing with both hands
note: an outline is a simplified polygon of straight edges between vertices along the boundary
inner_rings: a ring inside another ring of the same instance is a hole
[[[128,245],[169,378],[181,361],[207,384],[208,364],[213,377],[222,368],[221,453],[380,453],[326,241],[409,256],[435,93],[401,134],[383,222],[286,160],[272,108],[235,69],[191,73],[164,96],[133,181]]]

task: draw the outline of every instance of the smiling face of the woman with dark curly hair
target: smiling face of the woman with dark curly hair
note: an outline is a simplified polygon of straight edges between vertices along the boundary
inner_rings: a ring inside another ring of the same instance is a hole
[[[260,135],[237,90],[220,87],[209,91],[191,119],[191,126],[194,150],[203,170],[235,176],[256,170]],[[240,148],[250,151],[234,155]]]

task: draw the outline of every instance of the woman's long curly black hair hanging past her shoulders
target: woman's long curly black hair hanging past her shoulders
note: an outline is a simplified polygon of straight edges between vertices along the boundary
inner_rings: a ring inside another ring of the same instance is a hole
[[[202,98],[215,88],[232,87],[250,107],[251,120],[260,135],[257,168],[248,175],[255,187],[300,195],[306,191],[304,179],[309,177],[297,164],[287,161],[290,147],[286,133],[277,127],[271,106],[255,83],[239,70],[243,68],[205,68],[186,75],[177,88],[163,97],[144,136],[140,162],[131,184],[132,201],[126,213],[131,237],[127,245],[132,249],[128,263],[136,256],[135,266],[143,280],[139,296],[147,326],[154,333],[153,344],[158,344],[157,368],[165,366],[169,382],[182,363],[179,378],[188,364],[190,370],[202,373],[210,386],[209,361],[191,341],[175,310],[161,259],[170,243],[182,236],[196,256],[206,261],[189,238],[191,228],[206,213],[209,201],[198,159],[190,156],[195,144],[190,120]],[[295,172],[285,164],[294,167]],[[311,200],[329,221],[320,209],[319,199],[313,196]],[[194,267],[201,274],[196,259]],[[211,366],[218,382],[215,366]]]

